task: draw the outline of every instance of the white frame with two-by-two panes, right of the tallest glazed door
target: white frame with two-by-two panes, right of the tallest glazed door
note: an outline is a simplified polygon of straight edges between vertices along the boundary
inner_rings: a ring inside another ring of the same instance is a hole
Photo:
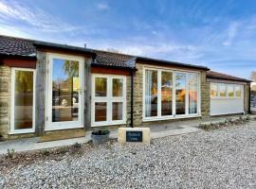
[[[106,96],[95,96],[95,79],[96,77],[105,77],[107,79],[107,91]],[[113,96],[113,78],[121,78],[123,80],[122,85],[122,96]],[[126,77],[119,75],[103,75],[103,74],[92,74],[92,110],[91,110],[91,126],[112,126],[112,125],[123,125],[126,124]],[[106,102],[106,121],[96,122],[95,121],[95,103]],[[112,120],[112,103],[122,103],[122,120]]]

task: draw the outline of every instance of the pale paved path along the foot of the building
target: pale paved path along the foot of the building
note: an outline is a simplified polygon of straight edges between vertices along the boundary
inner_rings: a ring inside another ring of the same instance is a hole
[[[212,121],[221,121],[227,118],[237,118],[238,116],[224,116],[224,117],[215,117],[209,119],[196,119],[196,120],[184,120],[174,123],[164,123],[164,124],[155,124],[151,125],[151,136],[152,138],[160,138],[166,136],[174,136],[179,134],[186,134],[190,132],[199,131],[198,129],[200,123],[212,122]],[[118,129],[111,129],[110,138],[118,138]],[[6,154],[8,149],[14,149],[14,151],[28,151],[34,149],[44,149],[52,148],[58,146],[70,146],[75,143],[84,144],[88,143],[91,140],[90,132],[86,132],[85,137],[65,139],[59,141],[50,141],[50,142],[40,142],[38,137],[28,138],[28,139],[18,139],[18,140],[9,140],[5,142],[0,142],[0,154]]]

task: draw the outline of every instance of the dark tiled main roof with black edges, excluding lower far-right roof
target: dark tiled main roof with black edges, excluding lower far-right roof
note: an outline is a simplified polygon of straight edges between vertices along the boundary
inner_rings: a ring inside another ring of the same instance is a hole
[[[168,60],[156,60],[146,57],[137,57],[132,55],[125,55],[119,53],[106,52],[101,50],[71,46],[60,43],[48,43],[35,40],[27,40],[16,37],[1,36],[0,35],[0,56],[23,56],[23,57],[36,57],[36,46],[47,46],[59,49],[73,50],[78,52],[86,52],[95,54],[95,60],[92,65],[95,66],[110,66],[118,68],[135,69],[136,60],[151,61],[162,65],[174,65],[186,68],[195,68],[201,70],[210,70],[208,67],[192,65],[187,63],[180,63]]]

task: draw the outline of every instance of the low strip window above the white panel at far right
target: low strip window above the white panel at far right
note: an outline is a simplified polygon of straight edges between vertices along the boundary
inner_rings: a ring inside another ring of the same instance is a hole
[[[210,83],[211,98],[241,98],[243,85],[228,83]]]

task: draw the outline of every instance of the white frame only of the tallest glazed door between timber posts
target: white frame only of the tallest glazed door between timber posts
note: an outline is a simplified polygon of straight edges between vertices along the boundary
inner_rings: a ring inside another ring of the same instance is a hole
[[[54,59],[79,61],[79,77],[81,89],[79,93],[79,112],[77,121],[52,122],[52,66]],[[47,78],[46,78],[46,131],[59,129],[83,128],[83,95],[84,95],[84,58],[78,56],[48,53],[47,54]]]

